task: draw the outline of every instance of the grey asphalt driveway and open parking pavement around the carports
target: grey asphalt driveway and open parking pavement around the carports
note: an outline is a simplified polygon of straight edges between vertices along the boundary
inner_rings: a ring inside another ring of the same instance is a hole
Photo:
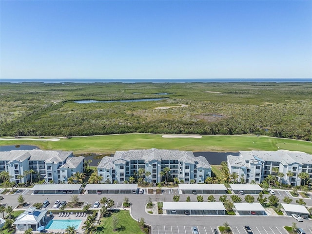
[[[276,192],[276,191],[275,191]],[[52,208],[55,200],[69,201],[72,195],[32,195],[31,191],[23,191],[25,200],[30,204],[35,202],[43,202],[49,199],[50,205],[48,208]],[[16,207],[18,205],[18,195],[3,195],[4,199],[1,200],[2,204],[11,205]],[[152,201],[172,201],[173,196],[178,195],[178,190],[173,189],[169,191],[165,189],[162,195],[78,195],[79,199],[83,202],[94,204],[95,201],[100,200],[101,197],[110,197],[115,201],[115,206],[121,208],[122,201],[127,196],[132,203],[131,214],[135,219],[143,217],[145,222],[152,225],[153,234],[191,234],[191,227],[197,226],[200,234],[212,234],[213,229],[217,226],[222,226],[224,222],[228,222],[232,227],[234,234],[246,234],[245,225],[249,225],[254,234],[287,234],[282,228],[283,226],[292,226],[292,222],[296,222],[298,227],[302,227],[307,234],[312,234],[312,220],[304,220],[299,223],[292,217],[284,216],[193,216],[193,215],[150,215],[145,212],[145,204]],[[287,196],[284,191],[276,192],[280,201]],[[180,195],[180,201],[185,201],[188,195]],[[192,201],[196,200],[197,195],[190,195]],[[203,195],[204,200],[207,200],[208,195]],[[228,195],[230,196],[230,195]],[[244,195],[240,195],[242,198]],[[219,195],[215,195],[218,201]],[[255,196],[257,197],[257,195]],[[230,197],[229,197],[230,198]],[[293,204],[297,198],[292,198]],[[305,199],[308,206],[312,206],[311,199]]]

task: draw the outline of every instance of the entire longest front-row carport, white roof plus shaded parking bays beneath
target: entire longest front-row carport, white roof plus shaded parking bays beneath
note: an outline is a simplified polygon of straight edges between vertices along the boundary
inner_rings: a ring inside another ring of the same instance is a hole
[[[167,215],[225,215],[222,202],[163,202],[162,204]]]

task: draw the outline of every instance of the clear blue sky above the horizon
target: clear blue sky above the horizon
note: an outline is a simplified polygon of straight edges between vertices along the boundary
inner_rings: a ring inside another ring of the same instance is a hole
[[[0,0],[0,78],[312,78],[312,1]]]

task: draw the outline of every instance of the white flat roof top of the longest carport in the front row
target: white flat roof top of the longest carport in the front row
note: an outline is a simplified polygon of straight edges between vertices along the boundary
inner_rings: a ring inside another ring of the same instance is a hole
[[[224,211],[222,202],[163,202],[164,210],[218,210]]]

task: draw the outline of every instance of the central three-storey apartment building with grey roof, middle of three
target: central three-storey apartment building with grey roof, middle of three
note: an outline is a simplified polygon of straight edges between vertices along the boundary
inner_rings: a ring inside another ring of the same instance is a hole
[[[203,156],[195,157],[190,151],[178,150],[129,150],[117,151],[113,157],[103,157],[98,164],[98,175],[102,182],[123,183],[135,177],[139,168],[145,169],[150,175],[145,176],[148,183],[164,181],[165,176],[160,172],[165,167],[170,168],[171,178],[179,178],[184,183],[204,183],[206,177],[211,176],[211,166]]]

